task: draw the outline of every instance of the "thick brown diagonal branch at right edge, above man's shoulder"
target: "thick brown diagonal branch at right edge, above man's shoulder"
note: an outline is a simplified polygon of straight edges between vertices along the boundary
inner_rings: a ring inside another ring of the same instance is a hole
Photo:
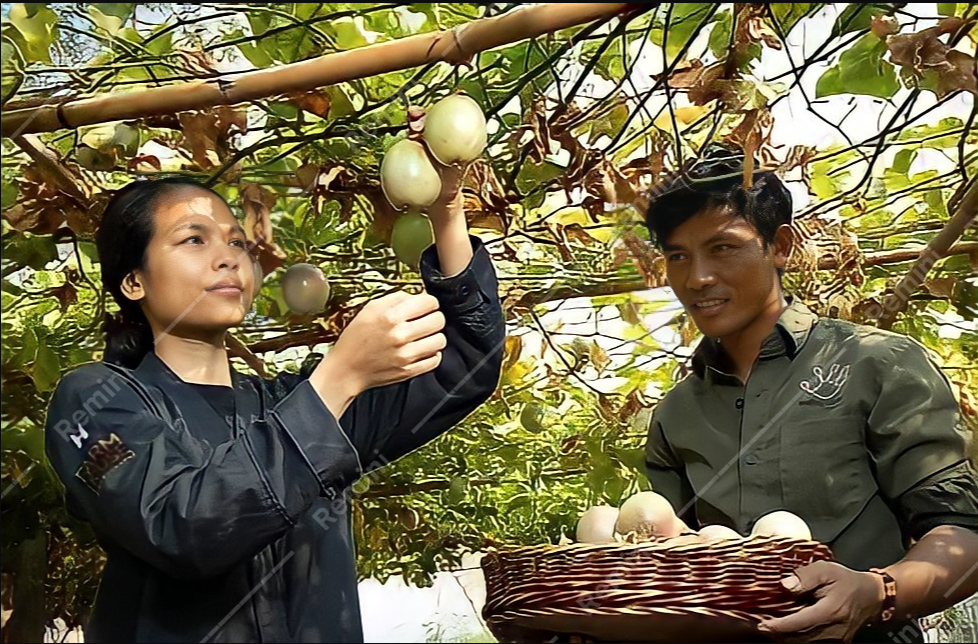
[[[975,222],[978,215],[978,180],[973,180],[958,204],[954,215],[948,220],[941,232],[937,233],[930,243],[920,252],[917,261],[910,271],[903,276],[892,295],[883,303],[883,313],[879,318],[879,328],[889,329],[896,316],[907,308],[907,301],[914,291],[924,282],[924,278],[938,260],[953,254],[954,248],[970,246],[972,252],[978,251],[978,242],[966,242],[952,247],[951,244],[964,234],[965,229]]]

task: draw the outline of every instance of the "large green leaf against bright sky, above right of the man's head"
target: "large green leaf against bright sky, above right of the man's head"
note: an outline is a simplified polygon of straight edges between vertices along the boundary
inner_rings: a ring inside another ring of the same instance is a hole
[[[865,94],[891,98],[900,89],[896,69],[883,60],[886,43],[866,34],[842,52],[839,62],[822,74],[815,85],[816,98],[837,94]]]

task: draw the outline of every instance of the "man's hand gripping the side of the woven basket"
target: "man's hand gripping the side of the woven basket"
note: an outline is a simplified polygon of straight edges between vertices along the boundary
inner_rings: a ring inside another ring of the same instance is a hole
[[[811,593],[817,600],[792,615],[761,622],[762,633],[782,642],[852,641],[883,606],[879,575],[829,561],[803,566],[782,583],[796,595]]]

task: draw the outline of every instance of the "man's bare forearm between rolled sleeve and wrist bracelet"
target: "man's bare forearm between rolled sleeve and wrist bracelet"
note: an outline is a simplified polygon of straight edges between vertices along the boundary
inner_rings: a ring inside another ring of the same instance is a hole
[[[978,593],[978,533],[934,528],[886,570],[896,581],[897,619],[942,611]]]

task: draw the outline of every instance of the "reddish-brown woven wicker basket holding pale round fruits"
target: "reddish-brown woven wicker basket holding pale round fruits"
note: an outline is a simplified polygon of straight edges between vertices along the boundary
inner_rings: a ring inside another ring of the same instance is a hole
[[[503,642],[757,641],[762,619],[804,605],[781,579],[831,559],[778,537],[501,547],[482,559],[483,617]]]

